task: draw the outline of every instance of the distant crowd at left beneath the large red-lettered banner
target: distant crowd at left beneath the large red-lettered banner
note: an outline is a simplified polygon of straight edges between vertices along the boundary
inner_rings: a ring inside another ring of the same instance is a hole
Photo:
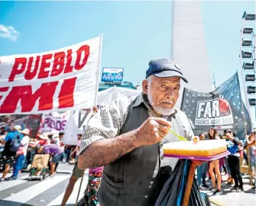
[[[62,142],[63,132],[60,134],[38,133],[34,138],[30,137],[30,130],[20,125],[15,125],[13,129],[1,128],[1,159],[3,175],[0,181],[17,179],[21,169],[30,169],[35,154],[50,154],[50,175],[54,175],[60,161],[66,159],[70,161],[70,153],[79,146],[65,145]],[[78,139],[82,135],[78,134]],[[79,150],[79,149],[77,149]],[[75,156],[73,157],[75,159]],[[6,175],[13,169],[11,178],[6,179]]]

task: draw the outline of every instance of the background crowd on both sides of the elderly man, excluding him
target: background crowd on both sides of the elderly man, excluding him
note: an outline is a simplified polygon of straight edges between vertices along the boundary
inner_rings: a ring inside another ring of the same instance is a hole
[[[221,140],[225,139],[230,154],[222,159],[216,159],[209,163],[203,163],[197,168],[197,183],[200,190],[209,189],[213,195],[222,194],[222,174],[228,175],[225,179],[227,184],[233,184],[232,191],[243,191],[243,180],[241,178],[240,166],[241,161],[248,163],[250,160],[252,175],[255,175],[255,130],[244,140],[235,137],[232,130],[225,130],[223,135],[218,134],[217,130],[212,127],[208,134],[200,134],[200,140]],[[50,175],[54,175],[60,161],[75,163],[73,175],[67,186],[66,194],[63,198],[63,205],[73,192],[74,184],[77,179],[84,174],[83,169],[79,169],[76,160],[79,155],[79,147],[81,144],[82,134],[77,134],[76,146],[65,145],[63,143],[63,132],[60,134],[37,134],[36,137],[30,137],[30,130],[25,128],[21,130],[20,125],[15,125],[13,130],[5,130],[1,128],[1,163],[3,166],[3,174],[0,181],[17,179],[21,169],[30,169],[35,154],[48,153],[50,158]],[[246,150],[248,147],[248,150]],[[249,151],[249,153],[247,153]],[[249,156],[249,158],[248,158]],[[13,167],[10,178],[6,179],[6,175]],[[211,179],[212,185],[206,184],[207,173]],[[97,188],[102,176],[102,167],[89,170],[89,184],[85,192],[86,202],[89,205],[99,205],[96,199]],[[234,185],[235,184],[235,185]],[[255,180],[253,188],[255,188]]]

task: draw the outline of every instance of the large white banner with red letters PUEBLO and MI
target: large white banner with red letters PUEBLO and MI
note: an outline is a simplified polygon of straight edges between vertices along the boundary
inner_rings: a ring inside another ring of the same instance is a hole
[[[99,83],[102,37],[60,50],[0,57],[0,114],[90,108]]]

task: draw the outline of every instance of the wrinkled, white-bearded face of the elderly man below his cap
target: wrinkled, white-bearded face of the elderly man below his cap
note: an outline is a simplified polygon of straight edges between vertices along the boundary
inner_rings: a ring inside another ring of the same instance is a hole
[[[180,77],[159,78],[150,76],[142,82],[143,91],[158,114],[170,115],[179,98]]]

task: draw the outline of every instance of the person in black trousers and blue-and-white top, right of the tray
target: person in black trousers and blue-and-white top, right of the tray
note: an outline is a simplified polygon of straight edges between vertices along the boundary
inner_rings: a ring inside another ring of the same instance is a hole
[[[228,155],[228,166],[230,168],[232,179],[235,180],[235,186],[232,188],[232,190],[244,191],[243,180],[240,173],[240,153],[238,146],[239,139],[238,137],[235,137],[235,134],[233,134],[232,130],[227,130],[226,137],[228,140],[230,140],[228,145],[228,151],[230,152]]]

